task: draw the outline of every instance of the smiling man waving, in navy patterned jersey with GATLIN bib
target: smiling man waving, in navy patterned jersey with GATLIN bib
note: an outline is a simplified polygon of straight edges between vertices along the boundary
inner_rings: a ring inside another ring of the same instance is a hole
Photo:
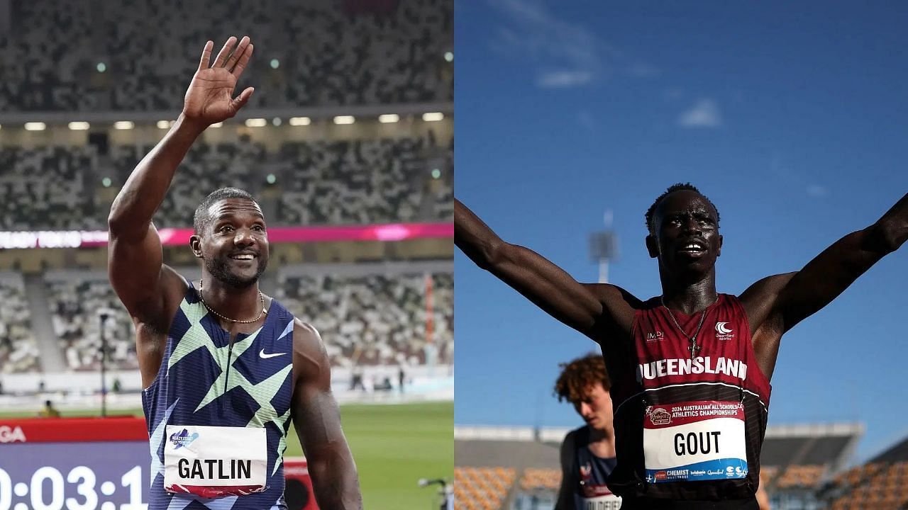
[[[362,507],[356,466],[331,395],[318,331],[259,289],[268,266],[262,209],[246,191],[212,192],[193,219],[202,279],[163,264],[152,224],[192,142],[231,118],[252,87],[233,89],[252,56],[205,44],[183,113],[140,162],[109,217],[108,272],[133,318],[152,455],[149,508],[286,509],[282,456],[292,419],[323,510]]]

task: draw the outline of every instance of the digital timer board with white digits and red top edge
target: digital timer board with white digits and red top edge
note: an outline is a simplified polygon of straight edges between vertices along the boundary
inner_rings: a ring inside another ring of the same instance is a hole
[[[146,510],[143,418],[0,421],[0,510]]]

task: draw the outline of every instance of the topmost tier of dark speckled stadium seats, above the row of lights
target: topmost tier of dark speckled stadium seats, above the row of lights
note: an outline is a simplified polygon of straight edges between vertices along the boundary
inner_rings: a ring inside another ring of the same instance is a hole
[[[234,34],[255,44],[243,76],[256,86],[253,108],[451,100],[448,0],[379,13],[333,0],[11,4],[12,29],[0,32],[5,112],[174,111],[204,42],[216,52]]]

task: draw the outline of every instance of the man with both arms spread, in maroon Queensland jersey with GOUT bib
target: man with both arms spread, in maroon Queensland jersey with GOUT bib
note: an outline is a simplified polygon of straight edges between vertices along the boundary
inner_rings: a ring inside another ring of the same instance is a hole
[[[770,378],[783,334],[908,240],[908,194],[802,270],[716,292],[719,212],[690,184],[646,211],[662,295],[646,301],[583,284],[498,238],[455,201],[454,240],[470,260],[602,348],[614,403],[622,508],[757,508]]]

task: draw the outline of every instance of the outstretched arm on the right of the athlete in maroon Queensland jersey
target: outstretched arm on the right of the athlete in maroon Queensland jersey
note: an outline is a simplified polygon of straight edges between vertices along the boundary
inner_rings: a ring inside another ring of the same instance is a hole
[[[908,240],[908,194],[863,230],[835,241],[802,270],[757,281],[741,295],[760,368],[771,377],[779,339]],[[767,372],[768,369],[768,372]]]

